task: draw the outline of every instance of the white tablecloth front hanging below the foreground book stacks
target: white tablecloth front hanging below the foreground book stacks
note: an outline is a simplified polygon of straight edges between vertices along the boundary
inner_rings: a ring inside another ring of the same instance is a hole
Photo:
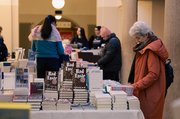
[[[139,110],[31,111],[31,119],[144,119]]]

